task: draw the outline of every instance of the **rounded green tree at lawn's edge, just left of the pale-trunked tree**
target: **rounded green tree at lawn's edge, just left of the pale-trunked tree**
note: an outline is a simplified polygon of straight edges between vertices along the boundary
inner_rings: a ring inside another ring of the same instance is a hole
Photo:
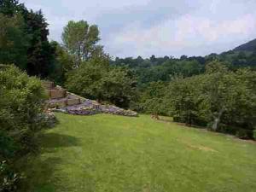
[[[204,105],[200,84],[203,77],[183,79],[177,77],[167,87],[165,97],[168,114],[177,122],[188,125],[205,125],[201,114]]]

